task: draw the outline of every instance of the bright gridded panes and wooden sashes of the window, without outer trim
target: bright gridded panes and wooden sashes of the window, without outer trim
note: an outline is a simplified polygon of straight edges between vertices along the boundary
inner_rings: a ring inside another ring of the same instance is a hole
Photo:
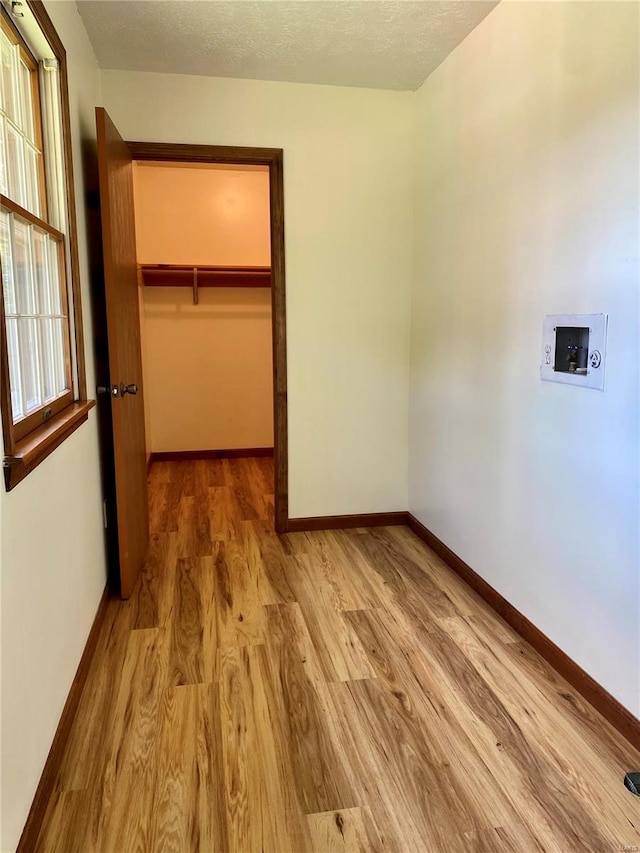
[[[58,64],[36,64],[4,29],[0,193],[7,199],[0,207],[0,257],[11,409],[18,424],[72,394],[70,297]]]

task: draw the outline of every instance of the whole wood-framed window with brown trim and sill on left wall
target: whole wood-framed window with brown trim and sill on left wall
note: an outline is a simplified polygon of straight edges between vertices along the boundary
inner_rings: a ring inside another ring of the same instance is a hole
[[[66,56],[42,3],[0,6],[0,368],[12,488],[86,420]]]

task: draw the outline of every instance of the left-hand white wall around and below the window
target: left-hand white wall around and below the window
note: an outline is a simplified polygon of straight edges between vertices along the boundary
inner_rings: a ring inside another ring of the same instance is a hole
[[[66,46],[87,381],[94,386],[81,145],[95,137],[100,78],[75,3],[47,3]],[[15,849],[104,589],[95,412],[12,492],[0,488],[0,849]]]

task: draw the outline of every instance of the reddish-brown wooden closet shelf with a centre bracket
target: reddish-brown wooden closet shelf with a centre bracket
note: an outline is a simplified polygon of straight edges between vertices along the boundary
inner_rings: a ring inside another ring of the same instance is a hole
[[[141,264],[145,287],[271,287],[271,267]]]

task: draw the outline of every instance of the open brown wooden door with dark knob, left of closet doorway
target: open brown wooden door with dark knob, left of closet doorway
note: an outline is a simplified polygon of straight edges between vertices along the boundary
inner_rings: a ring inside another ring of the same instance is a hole
[[[147,462],[131,154],[96,108],[120,591],[128,598],[149,544]]]

